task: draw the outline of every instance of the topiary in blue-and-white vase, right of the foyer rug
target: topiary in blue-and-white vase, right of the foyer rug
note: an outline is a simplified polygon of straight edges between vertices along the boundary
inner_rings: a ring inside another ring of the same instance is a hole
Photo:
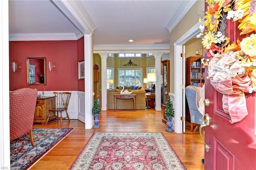
[[[172,117],[174,117],[174,108],[173,103],[170,99],[167,99],[166,101],[166,109],[164,110],[164,115],[167,118],[166,125],[168,126],[167,129],[165,129],[166,132],[174,132],[172,129]]]

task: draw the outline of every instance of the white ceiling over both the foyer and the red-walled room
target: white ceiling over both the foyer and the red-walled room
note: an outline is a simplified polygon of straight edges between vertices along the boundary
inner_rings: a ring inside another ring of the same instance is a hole
[[[65,11],[60,10],[63,9],[58,5],[60,2],[62,1],[9,0],[10,41],[24,41],[24,36],[27,40],[70,40],[82,37],[84,32],[78,22],[74,22]],[[91,25],[96,28],[92,27],[94,45],[159,45],[169,44],[169,32],[195,0],[80,2],[85,8],[80,12],[86,18],[89,15],[88,21],[92,21]],[[129,39],[134,42],[128,42]]]

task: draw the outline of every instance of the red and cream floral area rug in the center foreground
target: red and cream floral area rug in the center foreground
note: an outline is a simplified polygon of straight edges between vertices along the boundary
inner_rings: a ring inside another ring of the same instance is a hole
[[[186,170],[161,132],[95,132],[70,170]]]

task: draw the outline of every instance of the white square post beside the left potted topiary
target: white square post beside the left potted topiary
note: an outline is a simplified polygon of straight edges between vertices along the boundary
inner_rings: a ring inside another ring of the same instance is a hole
[[[93,104],[93,54],[92,35],[84,35],[84,108],[85,108],[85,129],[93,126],[92,104]],[[88,85],[89,84],[89,85]]]

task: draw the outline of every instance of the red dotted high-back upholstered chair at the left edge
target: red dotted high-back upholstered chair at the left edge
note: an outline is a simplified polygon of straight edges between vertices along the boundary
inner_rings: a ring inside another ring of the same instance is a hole
[[[10,92],[10,140],[29,132],[33,140],[33,122],[36,108],[37,90],[21,88]]]

